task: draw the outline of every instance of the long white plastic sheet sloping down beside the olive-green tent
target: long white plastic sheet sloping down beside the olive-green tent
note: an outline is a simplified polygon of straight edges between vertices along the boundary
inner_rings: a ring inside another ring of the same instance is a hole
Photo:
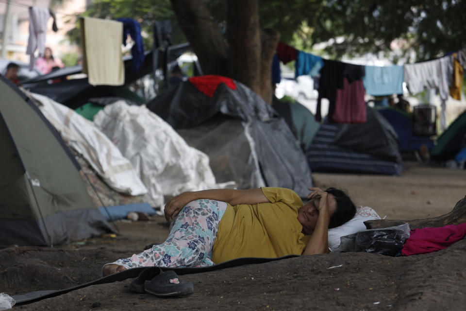
[[[82,154],[112,189],[131,195],[148,192],[131,162],[93,122],[50,98],[30,93],[67,144]]]

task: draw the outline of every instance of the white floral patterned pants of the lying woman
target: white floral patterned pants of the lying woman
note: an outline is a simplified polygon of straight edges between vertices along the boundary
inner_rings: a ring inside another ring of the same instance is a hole
[[[215,200],[196,200],[188,203],[170,225],[165,242],[130,258],[107,264],[126,269],[136,267],[205,267],[213,265],[214,246],[218,223],[227,204]],[[107,265],[106,264],[106,265]]]

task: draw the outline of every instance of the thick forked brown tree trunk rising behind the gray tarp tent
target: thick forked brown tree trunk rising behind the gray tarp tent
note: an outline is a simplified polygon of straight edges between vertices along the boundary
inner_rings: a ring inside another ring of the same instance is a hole
[[[227,1],[225,40],[202,0],[171,0],[204,74],[233,78],[272,103],[272,58],[279,34],[259,27],[257,0]]]

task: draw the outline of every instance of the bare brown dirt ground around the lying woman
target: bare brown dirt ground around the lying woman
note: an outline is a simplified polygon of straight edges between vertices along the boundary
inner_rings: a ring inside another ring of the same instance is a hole
[[[314,173],[313,177],[316,186],[344,188],[356,205],[372,207],[387,219],[439,216],[466,195],[466,171],[414,162],[406,163],[401,176]],[[163,242],[168,231],[162,217],[116,225],[121,233],[116,238],[0,250],[0,292],[23,294],[91,281],[100,276],[102,264]],[[465,266],[462,240],[426,255],[332,253],[184,275],[181,278],[192,282],[195,292],[182,298],[134,294],[128,290],[130,280],[125,280],[14,309],[464,310]]]

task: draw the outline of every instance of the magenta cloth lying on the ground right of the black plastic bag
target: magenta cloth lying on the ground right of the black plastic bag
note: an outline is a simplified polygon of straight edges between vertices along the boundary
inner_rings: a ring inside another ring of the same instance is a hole
[[[465,235],[466,224],[411,229],[411,236],[404,243],[401,254],[410,256],[436,252],[463,239]]]

